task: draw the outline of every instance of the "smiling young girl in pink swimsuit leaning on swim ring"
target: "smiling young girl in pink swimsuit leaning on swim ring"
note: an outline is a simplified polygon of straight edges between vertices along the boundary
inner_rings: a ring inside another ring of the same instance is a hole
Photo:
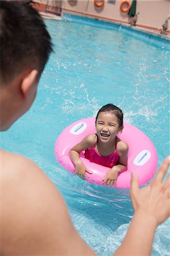
[[[103,183],[115,186],[119,172],[127,170],[128,145],[117,137],[122,130],[122,110],[113,104],[102,106],[96,116],[96,134],[89,134],[70,151],[76,174],[92,174],[79,158],[80,152],[85,150],[85,158],[90,162],[110,168]]]

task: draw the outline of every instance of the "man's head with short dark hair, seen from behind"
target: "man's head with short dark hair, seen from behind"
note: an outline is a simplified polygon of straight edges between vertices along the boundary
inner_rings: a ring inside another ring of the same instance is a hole
[[[1,1],[1,130],[32,105],[52,51],[43,19],[30,1]]]

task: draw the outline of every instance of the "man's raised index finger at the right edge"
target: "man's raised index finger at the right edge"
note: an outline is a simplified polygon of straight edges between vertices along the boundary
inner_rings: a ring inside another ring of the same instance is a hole
[[[170,165],[170,156],[167,156],[167,158],[164,159],[164,162],[159,167],[159,170],[157,171],[155,179],[152,181],[151,184],[157,184],[163,181],[164,176],[168,171],[169,165]]]

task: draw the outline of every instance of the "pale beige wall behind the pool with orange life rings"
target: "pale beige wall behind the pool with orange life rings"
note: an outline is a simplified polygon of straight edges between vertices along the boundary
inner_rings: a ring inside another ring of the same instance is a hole
[[[105,0],[102,7],[96,7],[93,0],[63,0],[62,7],[86,15],[128,23],[128,14],[122,13],[119,8],[121,2],[121,0]],[[129,2],[131,3],[132,0]],[[168,0],[137,0],[136,13],[138,12],[140,14],[137,25],[161,29],[165,19],[170,15],[170,2]],[[170,24],[168,24],[168,30],[169,28]]]

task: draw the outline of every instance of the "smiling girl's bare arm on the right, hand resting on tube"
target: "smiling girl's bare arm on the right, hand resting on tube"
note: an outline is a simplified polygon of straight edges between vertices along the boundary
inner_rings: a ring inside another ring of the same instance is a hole
[[[116,186],[117,177],[119,172],[124,172],[127,170],[127,156],[128,156],[128,145],[126,142],[119,142],[117,145],[118,154],[120,156],[119,162],[116,166],[113,166],[103,177],[103,182],[107,185]]]

